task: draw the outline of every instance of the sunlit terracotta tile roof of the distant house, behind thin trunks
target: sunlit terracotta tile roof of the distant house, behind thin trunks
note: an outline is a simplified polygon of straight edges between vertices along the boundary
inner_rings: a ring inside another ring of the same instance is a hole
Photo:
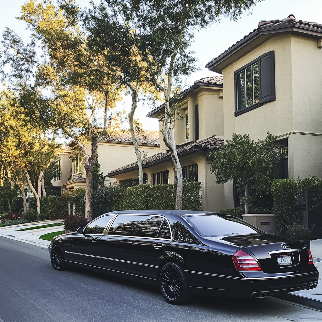
[[[160,138],[159,131],[145,130],[145,137],[136,137],[137,142],[140,145],[154,145],[159,146]],[[117,135],[112,135],[104,137],[101,139],[102,142],[115,142],[115,143],[132,143],[131,133],[129,132],[120,132]]]

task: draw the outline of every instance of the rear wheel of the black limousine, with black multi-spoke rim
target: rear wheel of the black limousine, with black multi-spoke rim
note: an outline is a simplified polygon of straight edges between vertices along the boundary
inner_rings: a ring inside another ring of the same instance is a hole
[[[163,266],[159,286],[163,298],[170,304],[184,304],[192,300],[192,294],[184,271],[175,263]]]

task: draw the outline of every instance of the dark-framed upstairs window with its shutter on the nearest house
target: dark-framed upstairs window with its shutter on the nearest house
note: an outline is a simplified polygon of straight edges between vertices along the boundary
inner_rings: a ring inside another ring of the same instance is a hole
[[[275,99],[274,51],[235,71],[235,116]]]

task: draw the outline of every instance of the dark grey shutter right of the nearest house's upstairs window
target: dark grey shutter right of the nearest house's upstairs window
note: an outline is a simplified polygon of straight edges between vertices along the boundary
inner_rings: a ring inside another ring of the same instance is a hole
[[[275,58],[274,51],[258,58],[260,71],[260,103],[275,100]]]

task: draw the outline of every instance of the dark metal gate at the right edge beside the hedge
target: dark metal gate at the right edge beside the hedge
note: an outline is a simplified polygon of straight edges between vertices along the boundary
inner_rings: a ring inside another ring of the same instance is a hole
[[[314,225],[312,237],[322,238],[322,190],[308,190],[308,227]]]

